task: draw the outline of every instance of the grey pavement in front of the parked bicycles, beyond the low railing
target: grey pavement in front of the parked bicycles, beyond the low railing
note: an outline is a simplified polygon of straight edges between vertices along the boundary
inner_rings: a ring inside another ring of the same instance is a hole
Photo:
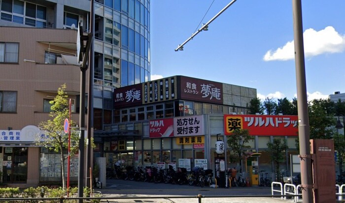
[[[271,187],[196,187],[164,183],[109,179],[106,187],[95,189],[107,203],[293,203],[272,195]],[[275,192],[274,195],[280,193]],[[198,197],[201,195],[201,198]],[[226,197],[225,197],[226,196]],[[301,202],[301,201],[299,201]]]

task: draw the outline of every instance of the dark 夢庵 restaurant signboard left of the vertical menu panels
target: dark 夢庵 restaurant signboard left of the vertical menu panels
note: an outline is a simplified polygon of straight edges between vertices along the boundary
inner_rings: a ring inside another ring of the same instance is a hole
[[[141,85],[132,85],[114,89],[114,108],[138,106],[142,103]]]

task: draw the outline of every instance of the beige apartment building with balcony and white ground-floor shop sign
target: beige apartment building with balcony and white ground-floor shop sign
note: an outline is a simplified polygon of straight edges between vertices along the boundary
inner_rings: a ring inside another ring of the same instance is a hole
[[[35,137],[62,84],[79,112],[76,38],[76,29],[0,27],[0,172],[7,185],[35,186],[59,173],[48,167],[58,165],[57,156],[35,145]]]

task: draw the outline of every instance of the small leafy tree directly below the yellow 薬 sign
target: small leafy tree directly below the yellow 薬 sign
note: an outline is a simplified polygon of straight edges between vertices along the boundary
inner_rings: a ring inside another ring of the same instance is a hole
[[[253,139],[253,136],[249,135],[249,130],[247,129],[236,129],[228,136],[227,143],[233,151],[232,158],[240,164],[241,170],[242,158],[245,156],[244,152],[246,149],[250,148],[250,146],[246,144]]]

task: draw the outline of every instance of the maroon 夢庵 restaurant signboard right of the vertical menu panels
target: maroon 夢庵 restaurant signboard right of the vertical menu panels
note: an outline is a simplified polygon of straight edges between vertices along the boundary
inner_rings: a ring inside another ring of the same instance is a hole
[[[223,84],[180,76],[181,99],[223,104]]]

